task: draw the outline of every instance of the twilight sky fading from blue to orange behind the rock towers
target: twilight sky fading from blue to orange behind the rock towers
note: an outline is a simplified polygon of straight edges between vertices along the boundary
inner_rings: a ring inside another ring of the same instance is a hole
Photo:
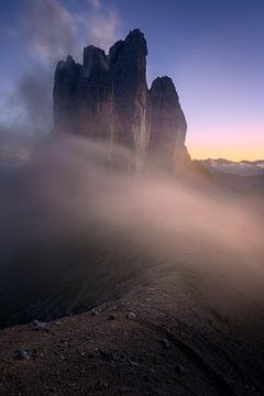
[[[263,21],[263,0],[1,1],[0,144],[51,128],[57,61],[140,28],[148,84],[174,79],[191,156],[264,158]]]

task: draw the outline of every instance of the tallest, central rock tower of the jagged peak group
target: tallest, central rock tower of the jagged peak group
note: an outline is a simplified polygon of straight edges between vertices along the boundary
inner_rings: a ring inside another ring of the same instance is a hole
[[[146,41],[139,30],[117,42],[109,53],[116,99],[116,139],[135,150],[139,166],[148,139],[146,55]]]

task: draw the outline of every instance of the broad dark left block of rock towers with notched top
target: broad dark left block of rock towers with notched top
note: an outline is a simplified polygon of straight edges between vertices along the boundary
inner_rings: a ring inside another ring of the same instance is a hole
[[[84,65],[76,64],[72,56],[59,62],[53,95],[56,131],[111,139],[112,81],[103,51],[86,47]]]

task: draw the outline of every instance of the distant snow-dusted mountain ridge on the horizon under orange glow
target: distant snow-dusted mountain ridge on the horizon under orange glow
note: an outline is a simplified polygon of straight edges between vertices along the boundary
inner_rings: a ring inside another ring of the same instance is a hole
[[[264,160],[234,162],[224,158],[208,158],[199,160],[199,163],[212,173],[235,174],[240,176],[264,175]]]

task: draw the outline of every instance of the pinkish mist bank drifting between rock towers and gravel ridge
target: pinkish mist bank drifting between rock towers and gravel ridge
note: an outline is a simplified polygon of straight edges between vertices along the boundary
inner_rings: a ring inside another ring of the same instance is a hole
[[[263,312],[262,211],[205,180],[106,168],[108,153],[108,145],[85,138],[47,139],[2,196],[1,258],[19,268],[15,293],[24,285],[24,300],[30,296],[34,306],[35,283],[45,290],[58,274],[53,297],[44,292],[37,304],[43,312],[57,302],[76,312],[157,265],[161,276],[168,266],[187,282],[197,274],[201,295],[209,290],[230,316],[234,309],[249,316],[258,304]],[[121,163],[131,158],[124,148],[116,153]]]

